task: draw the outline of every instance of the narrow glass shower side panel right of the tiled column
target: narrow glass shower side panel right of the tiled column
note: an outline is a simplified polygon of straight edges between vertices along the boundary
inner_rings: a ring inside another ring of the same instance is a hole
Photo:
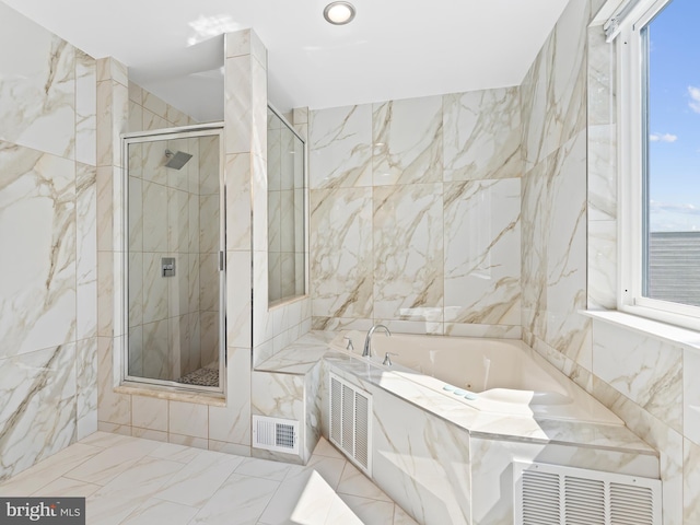
[[[306,293],[304,142],[268,108],[268,301]]]

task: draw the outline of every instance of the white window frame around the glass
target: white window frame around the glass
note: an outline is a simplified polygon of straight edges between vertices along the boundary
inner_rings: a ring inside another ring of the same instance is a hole
[[[644,130],[641,30],[673,0],[641,0],[620,22],[618,63],[618,310],[700,330],[700,307],[644,298],[642,154]]]

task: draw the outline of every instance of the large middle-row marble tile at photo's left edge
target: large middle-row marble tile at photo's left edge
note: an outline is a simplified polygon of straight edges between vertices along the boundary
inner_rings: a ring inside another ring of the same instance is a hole
[[[1,357],[75,337],[75,163],[0,142]],[[25,217],[35,220],[27,222]],[[22,232],[18,232],[18,225]]]

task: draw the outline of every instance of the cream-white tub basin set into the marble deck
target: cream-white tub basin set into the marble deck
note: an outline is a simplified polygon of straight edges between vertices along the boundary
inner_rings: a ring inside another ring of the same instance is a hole
[[[535,419],[623,424],[523,341],[415,336],[376,331],[373,358],[361,358],[366,332],[347,331],[331,342],[358,359],[464,402],[477,410]],[[386,352],[392,366],[382,365]]]

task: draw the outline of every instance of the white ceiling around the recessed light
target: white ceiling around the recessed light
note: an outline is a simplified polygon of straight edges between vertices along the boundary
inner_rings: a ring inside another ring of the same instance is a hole
[[[326,0],[2,0],[199,120],[223,114],[224,32],[268,48],[280,110],[517,85],[568,0],[351,0],[334,26]]]

